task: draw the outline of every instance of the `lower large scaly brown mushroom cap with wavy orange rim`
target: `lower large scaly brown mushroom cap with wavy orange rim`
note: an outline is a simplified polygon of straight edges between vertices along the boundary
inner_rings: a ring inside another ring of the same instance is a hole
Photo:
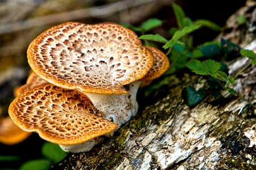
[[[86,142],[118,127],[97,113],[87,96],[49,83],[23,92],[9,107],[19,128],[59,145]]]

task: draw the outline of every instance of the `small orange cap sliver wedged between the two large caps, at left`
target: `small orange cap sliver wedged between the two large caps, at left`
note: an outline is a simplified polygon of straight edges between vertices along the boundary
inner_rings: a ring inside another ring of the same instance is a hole
[[[16,95],[18,96],[22,92],[32,87],[38,86],[39,84],[44,84],[44,83],[48,83],[48,82],[46,82],[45,80],[40,78],[38,75],[36,75],[35,72],[32,72],[30,76],[28,76],[26,84],[24,84],[23,86],[19,87],[18,90],[16,90]]]

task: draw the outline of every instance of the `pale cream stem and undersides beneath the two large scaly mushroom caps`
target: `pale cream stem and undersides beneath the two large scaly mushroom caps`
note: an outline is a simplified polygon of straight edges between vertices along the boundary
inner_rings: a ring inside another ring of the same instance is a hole
[[[92,101],[95,108],[101,111],[102,116],[107,120],[113,121],[118,125],[119,129],[122,124],[129,121],[131,116],[135,116],[138,112],[138,103],[136,95],[141,81],[137,80],[133,83],[127,84],[123,89],[129,92],[129,95],[102,95],[85,93]],[[117,130],[116,129],[116,130]],[[115,130],[115,131],[116,131]],[[113,137],[114,131],[105,134],[106,137]],[[65,152],[88,152],[92,148],[101,143],[104,137],[97,137],[90,141],[80,143],[79,145],[60,145]]]

